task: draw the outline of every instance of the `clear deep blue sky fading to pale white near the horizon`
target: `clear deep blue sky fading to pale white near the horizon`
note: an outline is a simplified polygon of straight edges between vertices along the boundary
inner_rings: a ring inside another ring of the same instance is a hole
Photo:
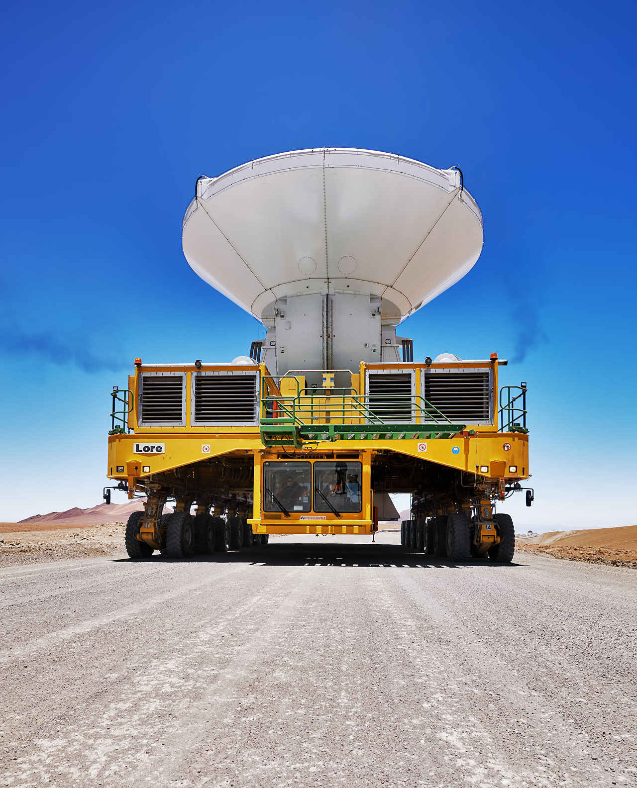
[[[136,356],[223,361],[259,336],[181,254],[199,173],[344,146],[458,163],[482,208],[479,262],[401,333],[417,359],[515,359],[502,382],[528,381],[536,502],[508,511],[539,530],[637,522],[635,17],[5,3],[0,520],[99,503],[108,392]]]

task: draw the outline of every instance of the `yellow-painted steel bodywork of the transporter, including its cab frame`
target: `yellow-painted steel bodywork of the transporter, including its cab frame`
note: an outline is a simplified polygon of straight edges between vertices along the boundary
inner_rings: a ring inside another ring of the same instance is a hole
[[[393,365],[363,365],[360,373],[352,375],[352,388],[363,394],[365,370],[388,370],[405,368],[421,370],[423,364],[393,364]],[[429,365],[445,368],[449,364]],[[456,366],[463,368],[484,368],[490,366],[489,362],[460,362]],[[492,362],[494,370],[494,402],[497,396],[497,361]],[[245,367],[255,371],[255,367]],[[214,457],[246,457],[254,458],[254,486],[253,503],[255,516],[248,519],[255,533],[372,533],[374,530],[373,494],[371,492],[371,463],[379,452],[397,452],[417,459],[425,459],[430,463],[438,463],[468,474],[474,475],[475,482],[497,481],[501,491],[504,491],[505,482],[521,481],[527,478],[528,473],[528,436],[527,434],[501,433],[497,429],[497,407],[494,405],[494,422],[489,425],[468,425],[460,435],[449,439],[412,440],[385,439],[385,440],[347,440],[342,438],[333,440],[313,441],[311,445],[303,448],[285,448],[284,456],[293,459],[311,459],[312,455],[338,456],[341,454],[358,454],[363,463],[362,479],[362,511],[359,514],[350,514],[338,518],[331,512],[321,513],[315,519],[311,515],[300,515],[290,512],[289,518],[284,515],[274,515],[262,509],[261,478],[263,462],[268,459],[278,459],[281,449],[266,448],[259,433],[259,426],[193,426],[191,418],[191,397],[185,398],[185,426],[169,427],[143,427],[137,421],[137,407],[140,374],[176,370],[187,375],[186,391],[190,392],[192,374],[196,371],[214,370],[216,372],[237,370],[237,366],[198,366],[195,365],[158,365],[143,368],[136,364],[136,374],[129,377],[129,389],[132,392],[131,411],[128,426],[133,432],[129,434],[115,434],[109,437],[108,444],[108,476],[114,480],[127,481],[129,497],[133,492],[145,489],[145,481],[155,474],[162,474],[180,467],[192,466],[194,463]],[[259,368],[261,376],[268,376],[266,367]],[[283,387],[281,386],[281,389]],[[416,395],[420,394],[420,377],[415,376]],[[321,407],[326,414],[326,422],[330,420],[330,397],[315,400],[317,410]],[[417,419],[418,421],[419,419]],[[352,423],[356,419],[351,420]],[[349,422],[348,422],[349,423]],[[165,451],[160,455],[143,455],[134,451],[135,444],[144,445],[165,444]],[[456,449],[456,453],[454,453]],[[509,466],[516,466],[516,473],[508,472]],[[484,468],[488,468],[484,472]],[[123,470],[118,470],[123,469]],[[258,516],[257,516],[258,515]],[[486,541],[490,534],[484,533]]]

